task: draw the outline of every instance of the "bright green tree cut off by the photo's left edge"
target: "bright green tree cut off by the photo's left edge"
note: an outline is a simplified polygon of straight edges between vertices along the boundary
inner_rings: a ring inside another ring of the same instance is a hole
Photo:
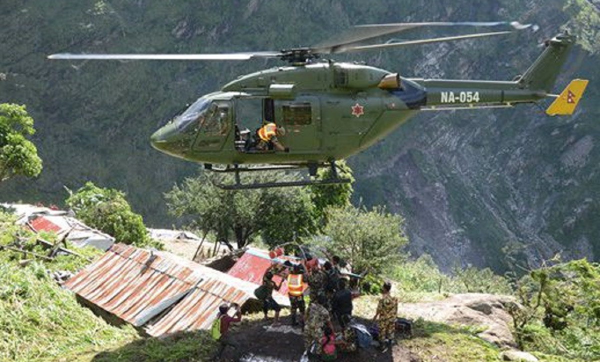
[[[26,137],[35,133],[25,105],[0,104],[0,182],[15,175],[38,176],[41,159]]]

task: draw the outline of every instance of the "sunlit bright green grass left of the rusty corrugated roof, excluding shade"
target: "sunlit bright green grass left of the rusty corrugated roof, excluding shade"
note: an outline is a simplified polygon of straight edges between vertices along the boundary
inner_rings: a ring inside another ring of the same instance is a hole
[[[133,328],[112,327],[80,306],[46,270],[5,258],[0,265],[0,360],[53,360],[137,338]]]

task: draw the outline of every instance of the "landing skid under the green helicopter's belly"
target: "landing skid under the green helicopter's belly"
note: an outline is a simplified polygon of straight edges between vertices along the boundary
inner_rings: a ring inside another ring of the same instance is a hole
[[[242,183],[240,180],[240,173],[242,172],[256,172],[256,171],[268,171],[268,170],[298,170],[301,168],[308,168],[310,176],[316,176],[317,168],[319,167],[331,167],[332,177],[325,180],[297,180],[297,181],[275,181],[275,182],[262,182],[262,183]],[[277,188],[277,187],[294,187],[294,186],[310,186],[310,185],[336,185],[339,183],[349,183],[350,179],[342,179],[338,175],[338,166],[335,161],[332,161],[329,165],[327,164],[305,164],[305,165],[268,165],[260,167],[247,167],[240,165],[227,165],[226,167],[217,168],[212,165],[205,164],[206,170],[211,170],[218,173],[235,173],[235,183],[231,185],[224,185],[222,183],[214,183],[220,189],[224,190],[247,190],[247,189],[265,189],[265,188]]]

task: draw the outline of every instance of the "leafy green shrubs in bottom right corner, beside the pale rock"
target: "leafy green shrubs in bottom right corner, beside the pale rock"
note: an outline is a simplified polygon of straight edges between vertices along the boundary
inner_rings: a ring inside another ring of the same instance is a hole
[[[508,311],[520,348],[569,360],[600,358],[598,264],[582,259],[547,266],[544,261],[518,280],[515,296],[518,304]]]

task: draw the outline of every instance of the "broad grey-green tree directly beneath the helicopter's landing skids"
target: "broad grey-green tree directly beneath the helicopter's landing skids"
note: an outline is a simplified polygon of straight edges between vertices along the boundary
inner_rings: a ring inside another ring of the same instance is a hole
[[[263,171],[242,174],[245,183],[296,180],[295,173]],[[215,183],[232,183],[230,174],[203,173],[173,186],[165,194],[169,213],[188,219],[189,226],[217,239],[236,240],[244,248],[262,236],[268,245],[307,236],[316,229],[310,193],[305,188],[226,191]]]

